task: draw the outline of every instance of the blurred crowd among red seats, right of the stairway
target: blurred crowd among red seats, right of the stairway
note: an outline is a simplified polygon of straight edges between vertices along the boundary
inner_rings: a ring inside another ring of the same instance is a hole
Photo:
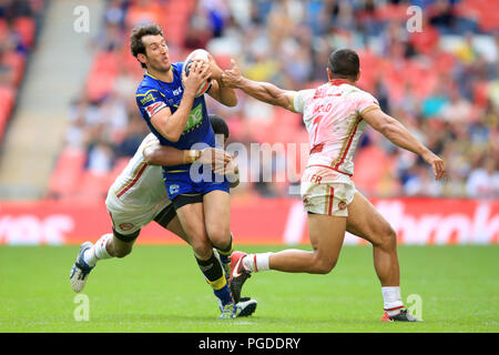
[[[246,77],[289,90],[325,82],[333,50],[356,50],[363,71],[358,87],[441,155],[448,171],[447,181],[436,182],[418,156],[367,129],[355,158],[357,187],[368,196],[497,199],[499,21],[482,4],[473,0],[109,0],[102,31],[92,43],[95,61],[89,82],[71,105],[67,144],[86,150],[85,168],[101,174],[134,153],[149,129],[135,104],[143,71],[130,54],[129,37],[134,26],[156,22],[165,32],[172,61],[205,48],[223,69],[234,58]],[[409,18],[418,20],[417,12],[408,14],[410,6],[422,9],[420,23],[409,26]],[[208,112],[230,124],[230,142],[248,148],[254,142],[307,142],[299,115],[241,92],[238,99],[235,108],[206,99]],[[286,164],[274,154],[275,176],[286,175]],[[244,183],[234,194],[286,196],[295,183],[296,176],[287,174],[284,183]]]

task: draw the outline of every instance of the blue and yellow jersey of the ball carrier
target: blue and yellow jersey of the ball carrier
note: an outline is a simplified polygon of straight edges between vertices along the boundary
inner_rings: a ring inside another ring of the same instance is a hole
[[[136,104],[151,132],[160,140],[160,144],[181,150],[189,150],[195,143],[206,143],[210,146],[215,146],[215,134],[210,124],[204,95],[194,99],[187,123],[177,142],[171,142],[165,139],[151,123],[151,118],[160,110],[167,106],[172,114],[177,110],[184,93],[182,87],[183,64],[183,62],[172,64],[172,82],[161,81],[146,72],[136,90]],[[164,170],[165,172],[189,170],[189,164],[165,166]]]

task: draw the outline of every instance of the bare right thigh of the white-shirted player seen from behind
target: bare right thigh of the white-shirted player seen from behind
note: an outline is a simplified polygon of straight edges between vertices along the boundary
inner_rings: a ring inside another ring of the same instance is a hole
[[[374,245],[396,243],[395,232],[385,217],[359,192],[348,205],[346,229]]]

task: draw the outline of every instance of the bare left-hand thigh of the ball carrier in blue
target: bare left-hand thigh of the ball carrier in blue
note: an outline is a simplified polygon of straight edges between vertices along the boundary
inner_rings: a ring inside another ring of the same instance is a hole
[[[204,258],[210,256],[212,245],[204,225],[203,203],[190,203],[176,209],[179,221],[194,253]]]

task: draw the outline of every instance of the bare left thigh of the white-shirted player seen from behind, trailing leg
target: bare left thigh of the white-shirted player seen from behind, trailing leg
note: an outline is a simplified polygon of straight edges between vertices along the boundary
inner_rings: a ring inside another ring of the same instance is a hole
[[[345,239],[346,217],[308,213],[308,236],[316,257],[333,267]]]

